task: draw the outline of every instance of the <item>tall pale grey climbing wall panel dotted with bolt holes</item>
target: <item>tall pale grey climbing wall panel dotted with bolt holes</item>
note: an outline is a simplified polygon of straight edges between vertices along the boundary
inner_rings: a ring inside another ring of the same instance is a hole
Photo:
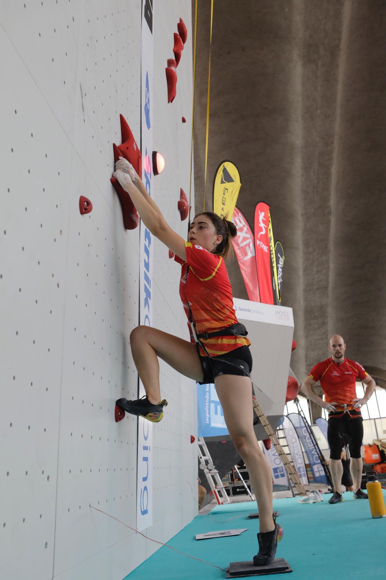
[[[165,169],[152,191],[185,237],[177,201],[180,187],[190,190],[191,5],[153,9],[153,148]],[[168,104],[180,17],[188,41]],[[115,423],[114,408],[137,397],[129,337],[139,324],[140,228],[124,229],[110,177],[119,114],[141,142],[141,2],[8,2],[0,24],[1,577],[121,580],[159,548],[106,515],[136,529],[137,419]],[[81,195],[93,205],[86,215]],[[155,241],[153,325],[188,339],[179,278]],[[143,533],[167,542],[197,511],[196,391],[160,368],[169,406],[153,426]]]

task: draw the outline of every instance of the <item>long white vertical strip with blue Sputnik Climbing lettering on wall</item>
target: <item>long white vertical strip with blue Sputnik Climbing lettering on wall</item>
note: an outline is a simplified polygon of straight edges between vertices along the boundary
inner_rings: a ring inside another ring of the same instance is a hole
[[[152,197],[153,143],[153,12],[151,0],[142,2],[141,24],[141,153],[142,181]],[[140,324],[152,326],[152,234],[140,223]],[[145,394],[139,381],[139,397]],[[137,456],[137,530],[153,523],[153,452],[152,423],[139,417]]]

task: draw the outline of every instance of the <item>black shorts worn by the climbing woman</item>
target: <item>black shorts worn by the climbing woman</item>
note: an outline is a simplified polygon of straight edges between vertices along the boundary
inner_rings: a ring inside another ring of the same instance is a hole
[[[204,374],[203,381],[198,383],[199,385],[212,384],[219,375],[249,376],[252,371],[252,354],[250,354],[249,346],[240,346],[218,357],[207,357],[201,354],[199,357]]]

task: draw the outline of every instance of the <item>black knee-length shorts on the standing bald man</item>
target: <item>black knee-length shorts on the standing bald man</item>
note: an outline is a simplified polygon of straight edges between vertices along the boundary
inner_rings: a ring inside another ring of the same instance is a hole
[[[352,458],[360,457],[360,446],[363,440],[363,419],[351,417],[345,413],[341,417],[330,417],[327,427],[327,440],[330,445],[330,459],[340,459],[340,454],[348,441],[348,450]]]

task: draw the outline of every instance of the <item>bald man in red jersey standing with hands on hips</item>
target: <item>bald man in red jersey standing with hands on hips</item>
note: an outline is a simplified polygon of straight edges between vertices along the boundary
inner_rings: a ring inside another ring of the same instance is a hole
[[[360,447],[363,439],[363,419],[360,407],[372,396],[375,382],[358,362],[345,358],[346,345],[343,338],[334,334],[329,341],[330,358],[312,368],[301,388],[303,393],[329,412],[327,439],[330,445],[330,470],[334,494],[329,503],[343,501],[341,480],[343,465],[340,459],[344,438],[347,437],[351,455],[350,471],[354,483],[354,499],[367,499],[361,488],[363,462]],[[355,382],[361,380],[366,387],[363,398],[355,398]],[[312,387],[320,381],[325,401],[312,393]]]

